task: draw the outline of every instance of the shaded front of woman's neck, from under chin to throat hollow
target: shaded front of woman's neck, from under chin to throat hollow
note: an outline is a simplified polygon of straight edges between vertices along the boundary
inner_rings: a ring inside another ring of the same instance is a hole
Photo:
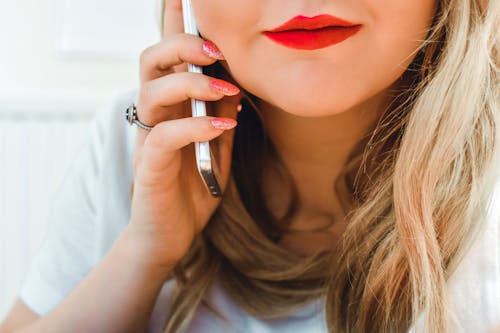
[[[373,131],[389,98],[380,94],[351,110],[317,118],[259,102],[266,131],[296,182],[302,207],[329,210],[332,185],[354,147]]]

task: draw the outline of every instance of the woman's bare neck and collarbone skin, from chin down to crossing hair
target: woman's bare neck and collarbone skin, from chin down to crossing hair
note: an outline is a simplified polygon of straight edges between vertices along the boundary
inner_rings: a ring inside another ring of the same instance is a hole
[[[345,228],[345,208],[335,184],[356,145],[370,135],[388,105],[388,93],[380,94],[356,108],[328,117],[295,116],[265,102],[258,102],[262,121],[276,151],[289,170],[297,191],[299,208],[290,228],[310,230],[334,221],[328,233],[291,233],[282,243],[308,254],[328,248]],[[279,177],[269,174],[264,181],[266,202],[277,216],[286,211]],[[344,191],[346,193],[346,191]],[[349,198],[347,199],[349,201]]]

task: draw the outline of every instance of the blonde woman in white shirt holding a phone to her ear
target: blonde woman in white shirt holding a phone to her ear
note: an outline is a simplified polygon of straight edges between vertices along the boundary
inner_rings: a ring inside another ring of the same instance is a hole
[[[4,327],[493,329],[498,1],[193,7],[203,38],[165,1],[140,90],[97,120]],[[153,127],[136,138],[116,125],[130,101]],[[222,198],[196,170],[207,140]]]

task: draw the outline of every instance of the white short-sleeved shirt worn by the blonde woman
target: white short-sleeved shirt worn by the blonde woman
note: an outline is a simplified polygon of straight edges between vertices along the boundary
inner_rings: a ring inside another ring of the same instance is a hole
[[[125,121],[124,110],[136,98],[136,90],[128,92],[96,113],[86,144],[59,188],[49,230],[20,293],[26,305],[39,315],[48,313],[77,286],[129,222],[136,130]],[[453,332],[490,332],[500,324],[498,197],[492,204],[487,229],[447,282],[457,317]],[[162,332],[171,287],[172,282],[166,283],[157,299],[149,332]],[[190,333],[327,332],[321,301],[286,318],[261,321],[241,310],[217,284],[209,297],[230,323],[200,307],[188,329]]]

